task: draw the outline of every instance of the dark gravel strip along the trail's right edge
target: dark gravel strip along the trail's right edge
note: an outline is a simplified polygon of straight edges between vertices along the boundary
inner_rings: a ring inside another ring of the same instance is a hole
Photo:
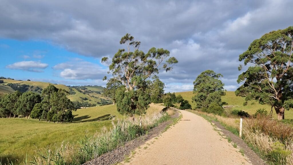
[[[248,159],[251,161],[252,164],[254,165],[265,165],[265,162],[263,159],[260,159],[260,157],[250,148],[248,145],[238,136],[233,134],[232,132],[226,130],[220,122],[215,122],[214,123],[219,129],[222,130],[223,134],[226,135],[226,137],[230,137],[232,142],[236,143],[237,146],[242,148],[244,150],[244,154],[248,157]]]

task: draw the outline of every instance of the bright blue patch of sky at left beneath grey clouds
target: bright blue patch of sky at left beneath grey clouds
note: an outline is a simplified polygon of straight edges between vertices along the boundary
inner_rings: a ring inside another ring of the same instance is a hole
[[[91,78],[84,78],[81,81],[75,78],[62,77],[62,75],[60,75],[62,68],[56,68],[60,64],[88,62],[99,65],[104,69],[106,69],[106,67],[101,65],[100,58],[79,55],[50,42],[1,39],[0,52],[2,61],[1,70],[3,71],[1,76],[4,77],[10,77],[16,80],[30,79],[33,81],[64,83],[66,85],[104,85],[105,83],[95,83]],[[37,66],[33,66],[31,63],[28,63],[30,66],[23,64],[16,67],[13,65],[30,61],[35,62]],[[38,66],[38,64],[43,64],[44,66]],[[91,70],[84,71],[91,72]],[[105,72],[101,74],[107,75]]]

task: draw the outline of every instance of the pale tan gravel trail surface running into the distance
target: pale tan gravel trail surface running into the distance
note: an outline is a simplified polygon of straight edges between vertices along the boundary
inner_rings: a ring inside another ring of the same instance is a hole
[[[215,127],[200,116],[183,115],[174,127],[150,139],[120,164],[132,165],[242,165],[251,164]]]

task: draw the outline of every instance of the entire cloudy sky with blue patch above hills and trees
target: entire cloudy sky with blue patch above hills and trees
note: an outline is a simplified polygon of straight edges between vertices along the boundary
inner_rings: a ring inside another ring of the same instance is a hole
[[[166,92],[193,90],[210,69],[225,89],[239,87],[239,55],[273,30],[293,26],[293,1],[0,0],[0,76],[65,85],[102,85],[119,41],[169,50],[179,61],[161,72]]]

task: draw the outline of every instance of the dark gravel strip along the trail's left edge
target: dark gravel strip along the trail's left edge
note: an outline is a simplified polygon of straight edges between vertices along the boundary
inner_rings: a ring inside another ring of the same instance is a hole
[[[176,112],[172,118],[177,118],[179,113]],[[149,139],[152,139],[159,134],[173,122],[173,120],[168,120],[159,124],[157,127],[152,128],[148,134],[145,134],[137,139],[134,139],[130,142],[127,142],[124,146],[115,149],[114,151],[105,153],[93,160],[87,161],[84,165],[111,165],[115,163],[119,163],[125,159],[125,156],[128,156],[132,150],[144,144]]]

